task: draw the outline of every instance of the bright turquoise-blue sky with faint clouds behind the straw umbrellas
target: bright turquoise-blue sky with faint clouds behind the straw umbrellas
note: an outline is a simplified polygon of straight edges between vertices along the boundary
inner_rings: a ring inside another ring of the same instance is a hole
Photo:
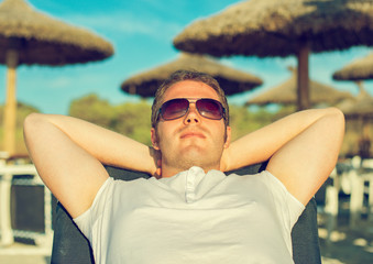
[[[18,100],[46,113],[68,113],[73,99],[95,92],[112,103],[139,100],[120,90],[120,84],[134,74],[176,59],[179,52],[173,38],[196,19],[221,11],[234,0],[29,0],[35,9],[73,25],[103,36],[114,46],[114,55],[106,61],[63,67],[20,66]],[[365,56],[370,48],[354,47],[344,52],[310,56],[310,78],[337,89],[356,94],[353,82],[333,81],[331,75],[354,58]],[[231,57],[221,63],[261,77],[264,85],[253,92],[230,98],[243,103],[253,95],[289,77],[287,66],[294,57]],[[373,94],[373,81],[365,88]],[[0,66],[0,103],[6,97],[6,67]]]

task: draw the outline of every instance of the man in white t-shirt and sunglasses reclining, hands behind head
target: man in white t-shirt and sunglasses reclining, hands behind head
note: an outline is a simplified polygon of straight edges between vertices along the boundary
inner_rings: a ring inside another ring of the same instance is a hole
[[[32,160],[97,263],[293,263],[292,228],[338,158],[339,110],[297,112],[231,143],[219,84],[182,70],[156,92],[152,127],[155,151],[69,117],[25,120]],[[263,161],[254,176],[222,173]],[[116,182],[101,164],[156,177]]]

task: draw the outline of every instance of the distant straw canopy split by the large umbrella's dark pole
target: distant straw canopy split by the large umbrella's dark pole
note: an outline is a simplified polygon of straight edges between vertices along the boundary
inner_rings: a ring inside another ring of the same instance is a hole
[[[294,68],[289,68],[289,70],[293,72],[289,79],[250,99],[246,105],[295,105],[297,101],[297,72]],[[309,80],[309,91],[311,106],[319,103],[334,105],[339,101],[353,98],[349,92],[339,91],[314,80]]]

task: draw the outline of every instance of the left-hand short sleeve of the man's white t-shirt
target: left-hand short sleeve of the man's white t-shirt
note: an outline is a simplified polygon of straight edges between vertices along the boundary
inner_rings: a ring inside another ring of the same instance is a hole
[[[109,177],[97,191],[95,200],[90,208],[74,219],[80,231],[88,240],[91,240],[91,229],[97,219],[101,218],[105,207],[110,204],[112,198],[113,178]]]

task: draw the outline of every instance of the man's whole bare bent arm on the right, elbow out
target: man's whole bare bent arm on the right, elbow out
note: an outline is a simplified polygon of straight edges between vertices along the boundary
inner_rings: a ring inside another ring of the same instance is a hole
[[[234,141],[221,167],[231,170],[268,161],[266,169],[306,205],[334,168],[343,135],[339,109],[299,111]]]

